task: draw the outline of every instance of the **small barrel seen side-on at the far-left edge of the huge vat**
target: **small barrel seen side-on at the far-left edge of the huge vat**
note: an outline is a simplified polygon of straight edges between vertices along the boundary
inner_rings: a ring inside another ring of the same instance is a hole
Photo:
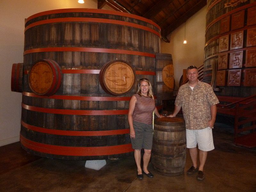
[[[11,90],[22,92],[23,63],[12,64]]]

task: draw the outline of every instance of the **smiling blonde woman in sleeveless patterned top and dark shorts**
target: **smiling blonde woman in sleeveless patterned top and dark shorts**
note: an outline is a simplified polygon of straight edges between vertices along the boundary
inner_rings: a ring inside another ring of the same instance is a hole
[[[154,176],[148,171],[153,141],[153,111],[157,117],[164,117],[158,113],[148,79],[140,79],[138,91],[132,96],[128,111],[130,136],[139,179],[143,179],[143,173],[149,178]],[[142,148],[144,148],[143,169],[140,167]]]

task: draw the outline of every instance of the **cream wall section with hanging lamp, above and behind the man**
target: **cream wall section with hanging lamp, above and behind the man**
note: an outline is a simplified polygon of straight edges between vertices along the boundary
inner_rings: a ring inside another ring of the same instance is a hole
[[[185,23],[168,36],[171,43],[161,43],[161,52],[172,54],[175,90],[179,87],[183,69],[190,65],[200,67],[204,63],[205,26],[206,6],[186,21],[187,44],[183,44]]]

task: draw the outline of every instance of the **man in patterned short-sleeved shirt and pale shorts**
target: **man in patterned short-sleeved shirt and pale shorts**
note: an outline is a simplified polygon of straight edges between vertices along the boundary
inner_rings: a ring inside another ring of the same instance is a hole
[[[188,83],[180,86],[173,114],[175,117],[182,107],[186,124],[187,148],[193,166],[187,174],[198,171],[197,180],[204,180],[204,164],[207,152],[214,149],[212,128],[215,122],[218,98],[209,84],[198,80],[198,69],[189,66],[187,69]],[[199,166],[197,164],[197,148],[199,149]]]

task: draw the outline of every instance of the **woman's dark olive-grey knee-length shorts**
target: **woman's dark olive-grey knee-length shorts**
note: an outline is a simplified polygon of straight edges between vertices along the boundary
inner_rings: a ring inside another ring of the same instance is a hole
[[[145,124],[133,121],[135,138],[131,138],[133,149],[152,149],[153,124]]]

